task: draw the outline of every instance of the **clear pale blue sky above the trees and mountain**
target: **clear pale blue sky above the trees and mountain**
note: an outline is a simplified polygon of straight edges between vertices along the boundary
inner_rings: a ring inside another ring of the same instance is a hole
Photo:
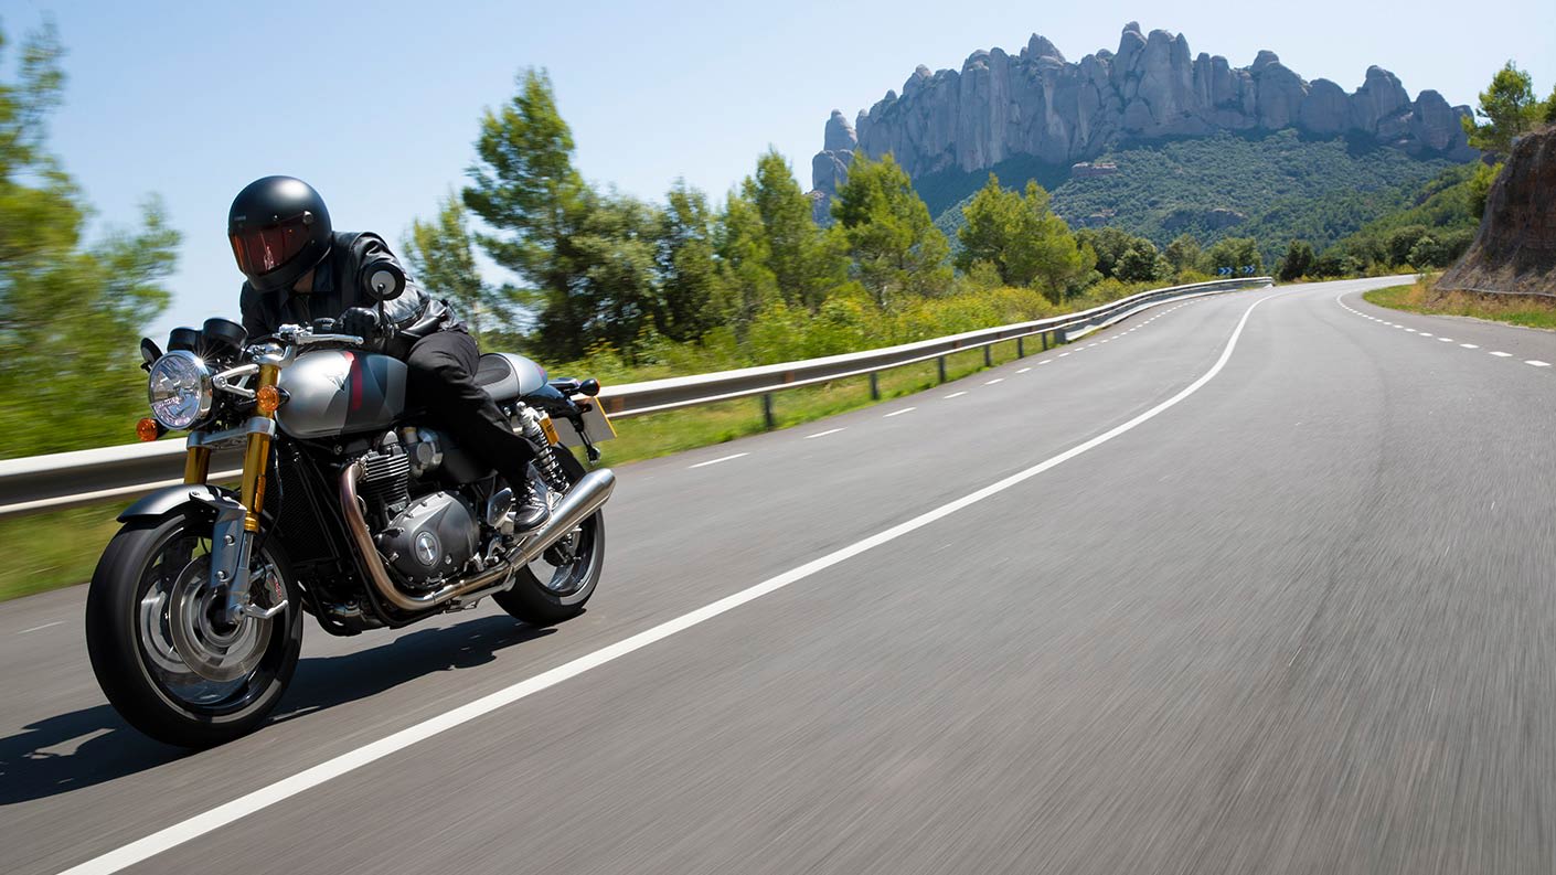
[[[1492,9],[1492,8],[1486,8]],[[769,145],[809,188],[832,109],[853,118],[901,90],[918,64],[960,69],[1039,33],[1071,59],[1117,50],[1123,25],[1183,33],[1193,53],[1248,65],[1260,48],[1346,90],[1368,65],[1411,97],[1474,104],[1516,59],[1539,97],[1556,84],[1556,5],[1494,12],[1394,5],[1041,3],[166,3],[6,0],[16,39],[51,17],[68,54],[50,143],[96,210],[95,230],[134,224],[160,195],[184,232],[174,300],[152,325],[232,316],[241,276],[226,243],[232,196],[272,173],[311,182],[342,230],[398,244],[473,160],[482,109],[526,67],[551,73],[596,184],[661,199],[677,177],[720,196]],[[16,45],[11,42],[9,45]],[[9,56],[8,56],[9,59]],[[9,79],[14,65],[0,65]],[[493,276],[493,279],[501,279]]]

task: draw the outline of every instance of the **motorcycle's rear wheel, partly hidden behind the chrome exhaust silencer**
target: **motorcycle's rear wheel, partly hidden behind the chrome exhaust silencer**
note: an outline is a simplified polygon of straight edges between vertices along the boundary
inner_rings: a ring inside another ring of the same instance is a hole
[[[584,464],[565,448],[555,448],[568,483],[584,476]],[[531,626],[552,626],[584,612],[605,565],[605,518],[594,512],[540,559],[515,571],[513,587],[492,601]]]

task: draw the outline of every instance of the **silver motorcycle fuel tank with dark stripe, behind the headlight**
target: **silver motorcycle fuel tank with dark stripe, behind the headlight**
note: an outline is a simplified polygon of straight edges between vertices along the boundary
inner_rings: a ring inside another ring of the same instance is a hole
[[[305,352],[282,371],[275,423],[293,438],[387,428],[405,413],[405,363],[370,352]]]

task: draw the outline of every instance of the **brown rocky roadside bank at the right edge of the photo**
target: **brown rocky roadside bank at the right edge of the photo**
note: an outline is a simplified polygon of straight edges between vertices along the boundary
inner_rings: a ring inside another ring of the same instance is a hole
[[[1475,243],[1438,288],[1556,294],[1556,128],[1512,146]]]

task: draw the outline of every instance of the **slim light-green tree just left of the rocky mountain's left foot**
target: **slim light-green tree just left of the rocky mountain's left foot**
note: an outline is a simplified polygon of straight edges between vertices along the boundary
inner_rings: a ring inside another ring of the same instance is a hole
[[[767,268],[784,302],[812,313],[820,310],[826,296],[846,282],[848,257],[836,237],[817,227],[811,201],[789,162],[769,148],[756,159],[756,174],[741,184],[741,193],[762,220]]]

